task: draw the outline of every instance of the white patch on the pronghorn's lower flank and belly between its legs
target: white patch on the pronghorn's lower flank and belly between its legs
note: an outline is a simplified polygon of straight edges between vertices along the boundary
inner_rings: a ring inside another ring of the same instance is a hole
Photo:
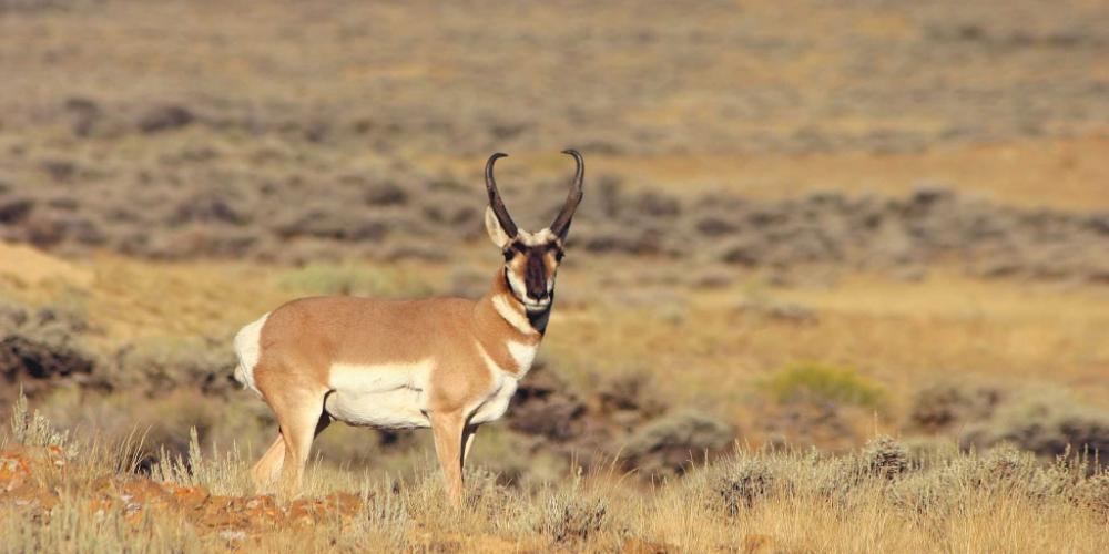
[[[352,425],[385,429],[429,427],[427,383],[430,359],[414,363],[334,363],[324,409]]]

